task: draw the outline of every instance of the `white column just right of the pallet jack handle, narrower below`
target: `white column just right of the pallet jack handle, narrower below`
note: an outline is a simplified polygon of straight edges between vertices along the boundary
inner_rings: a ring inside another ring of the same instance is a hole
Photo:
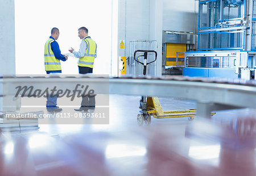
[[[150,40],[158,42],[156,76],[162,76],[163,1],[150,0]]]

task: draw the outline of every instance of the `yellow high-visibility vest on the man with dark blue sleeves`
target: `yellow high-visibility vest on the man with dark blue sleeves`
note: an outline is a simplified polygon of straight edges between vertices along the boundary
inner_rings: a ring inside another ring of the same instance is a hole
[[[51,43],[55,41],[49,38],[44,45],[44,68],[46,71],[61,70],[60,60],[55,58]]]

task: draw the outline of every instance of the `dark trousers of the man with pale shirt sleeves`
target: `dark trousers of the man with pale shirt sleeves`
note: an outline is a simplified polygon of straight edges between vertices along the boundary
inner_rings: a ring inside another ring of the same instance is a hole
[[[85,67],[85,66],[79,66],[79,73],[80,74],[87,74],[87,73],[92,73],[93,68]],[[82,108],[95,108],[95,96],[94,95],[89,95],[86,97],[82,97],[82,102],[81,102],[81,107]]]

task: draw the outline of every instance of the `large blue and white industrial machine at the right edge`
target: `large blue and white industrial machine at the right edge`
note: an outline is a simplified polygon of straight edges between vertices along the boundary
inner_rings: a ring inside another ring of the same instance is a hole
[[[197,51],[185,52],[183,75],[255,79],[255,27],[255,0],[200,0]]]

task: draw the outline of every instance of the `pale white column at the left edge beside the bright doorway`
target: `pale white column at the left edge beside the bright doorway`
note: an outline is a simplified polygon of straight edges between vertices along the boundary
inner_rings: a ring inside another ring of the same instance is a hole
[[[14,0],[0,1],[0,74],[15,74]]]

